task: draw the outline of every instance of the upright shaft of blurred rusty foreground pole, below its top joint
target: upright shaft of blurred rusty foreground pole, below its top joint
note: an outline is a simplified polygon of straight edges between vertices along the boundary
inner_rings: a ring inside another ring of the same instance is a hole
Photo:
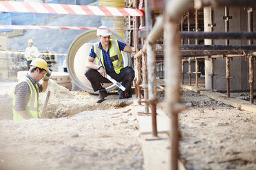
[[[178,110],[175,104],[180,102],[180,34],[178,23],[167,19],[164,22],[166,48],[164,56],[166,60],[166,95],[165,104],[171,118],[171,165],[172,170],[178,169]],[[171,57],[170,57],[171,56]]]

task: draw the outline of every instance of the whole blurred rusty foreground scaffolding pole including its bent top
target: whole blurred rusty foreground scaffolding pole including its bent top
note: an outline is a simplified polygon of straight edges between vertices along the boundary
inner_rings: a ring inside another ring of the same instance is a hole
[[[171,119],[170,130],[170,169],[178,170],[179,138],[178,138],[178,103],[180,102],[180,34],[179,22],[181,14],[193,4],[192,0],[167,0],[164,12],[164,60],[166,66],[165,106]]]

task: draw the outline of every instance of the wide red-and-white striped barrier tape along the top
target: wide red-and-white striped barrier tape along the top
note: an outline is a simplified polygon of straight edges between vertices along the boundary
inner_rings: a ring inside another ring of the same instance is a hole
[[[89,5],[0,1],[0,12],[26,12],[41,14],[77,14],[98,16],[144,16],[143,10]]]

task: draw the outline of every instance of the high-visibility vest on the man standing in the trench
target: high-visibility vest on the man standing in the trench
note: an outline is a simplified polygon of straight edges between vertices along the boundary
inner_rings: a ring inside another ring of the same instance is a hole
[[[28,101],[28,104],[25,107],[25,110],[30,114],[30,117],[32,118],[40,118],[41,117],[41,108],[39,106],[39,86],[36,84],[36,88],[32,84],[32,82],[26,78],[24,81],[28,83],[28,86],[30,87],[30,99]],[[17,84],[18,86],[19,84]],[[17,87],[16,86],[16,87]],[[16,105],[16,95],[14,94],[13,102],[12,102],[12,112],[13,112],[13,119],[14,121],[18,120],[25,120],[24,117],[21,116],[16,110],[15,110],[15,105]]]

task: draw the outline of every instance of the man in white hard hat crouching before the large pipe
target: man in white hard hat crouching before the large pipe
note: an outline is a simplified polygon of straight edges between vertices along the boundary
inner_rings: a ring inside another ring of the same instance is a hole
[[[122,65],[122,54],[120,51],[127,53],[132,52],[132,47],[118,40],[111,40],[111,32],[106,26],[102,25],[97,29],[96,42],[89,53],[87,68],[89,69],[85,76],[91,82],[94,91],[99,90],[99,100],[97,103],[104,101],[107,91],[102,83],[111,83],[107,80],[107,74],[116,82],[122,82],[122,86],[126,88],[125,92],[118,90],[119,99],[131,97],[131,82],[134,80],[134,70]],[[97,64],[94,63],[96,58]]]

